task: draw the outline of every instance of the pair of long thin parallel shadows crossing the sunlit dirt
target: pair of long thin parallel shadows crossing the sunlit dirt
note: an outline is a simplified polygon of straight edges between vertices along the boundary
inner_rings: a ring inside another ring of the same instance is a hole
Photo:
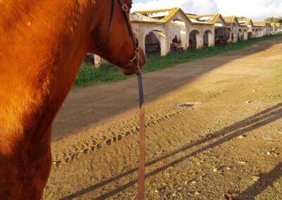
[[[166,158],[176,156],[176,154],[179,154],[180,152],[191,149],[194,146],[199,146],[200,144],[205,144],[207,142],[211,142],[214,139],[218,139],[216,142],[212,142],[212,144],[207,144],[206,146],[203,146],[200,149],[192,151],[191,153],[177,159],[176,161],[168,163],[168,164],[162,166],[161,168],[158,168],[157,170],[154,170],[151,173],[148,173],[146,175],[146,177],[151,177],[153,175],[157,175],[157,173],[160,173],[161,171],[164,171],[167,168],[173,167],[174,165],[177,165],[178,163],[181,163],[182,161],[185,161],[186,159],[188,159],[192,156],[196,156],[197,154],[200,154],[203,151],[207,151],[208,149],[212,149],[216,146],[219,146],[220,144],[223,144],[225,142],[230,141],[231,139],[234,139],[235,137],[239,137],[240,135],[245,135],[245,134],[247,134],[247,132],[250,132],[252,130],[256,130],[259,127],[263,127],[264,125],[267,125],[269,123],[273,123],[274,121],[279,120],[281,118],[282,118],[282,104],[277,104],[276,106],[273,106],[271,108],[266,109],[265,111],[257,113],[256,115],[253,115],[250,118],[246,118],[245,120],[242,120],[238,123],[235,123],[235,124],[233,124],[229,127],[225,127],[222,130],[219,130],[217,132],[214,132],[214,134],[210,135],[210,137],[208,137],[208,138],[199,139],[195,142],[192,142],[191,144],[188,144],[188,146],[184,146],[181,149],[173,151],[171,154],[168,154],[166,156],[162,156],[161,158],[155,159],[154,161],[150,161],[149,163],[146,164],[146,167],[154,165],[155,163],[158,163],[159,161],[162,161]],[[274,170],[274,173],[276,172],[276,170]],[[63,198],[61,198],[61,200],[77,198],[79,196],[82,196],[84,194],[92,192],[95,189],[99,189],[100,187],[104,187],[105,185],[108,185],[111,182],[119,180],[122,177],[130,175],[132,173],[136,173],[137,171],[138,171],[138,168],[129,170],[128,172],[122,173],[121,175],[117,175],[116,177],[112,177],[109,180],[99,182],[96,185],[92,185],[91,187],[88,187],[86,189],[82,189],[78,192],[75,192],[74,194],[63,197]],[[114,194],[122,192],[124,189],[127,189],[128,187],[135,185],[136,183],[137,183],[137,179],[132,180],[131,182],[128,182],[127,184],[122,185],[121,187],[118,187],[111,192],[103,194],[102,196],[97,196],[96,199],[109,198],[110,196],[113,196]],[[243,193],[243,194],[250,193],[249,191],[251,191],[252,189],[253,188],[251,188],[250,190],[247,190],[246,193]],[[254,189],[255,189],[255,186],[254,186]]]

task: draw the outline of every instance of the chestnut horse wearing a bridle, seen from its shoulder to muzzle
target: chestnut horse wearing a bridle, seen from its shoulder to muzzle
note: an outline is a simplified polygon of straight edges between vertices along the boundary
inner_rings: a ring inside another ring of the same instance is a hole
[[[0,199],[42,198],[51,168],[51,124],[87,52],[125,75],[145,63],[133,45],[131,5],[0,0]]]

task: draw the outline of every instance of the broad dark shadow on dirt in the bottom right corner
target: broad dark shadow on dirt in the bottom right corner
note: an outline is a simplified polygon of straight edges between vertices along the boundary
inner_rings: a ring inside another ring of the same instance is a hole
[[[244,192],[238,195],[237,199],[255,199],[255,196],[264,192],[264,189],[272,186],[276,180],[282,177],[282,162],[278,163],[269,173],[261,174],[260,177],[259,182],[255,182],[254,185],[248,187]]]

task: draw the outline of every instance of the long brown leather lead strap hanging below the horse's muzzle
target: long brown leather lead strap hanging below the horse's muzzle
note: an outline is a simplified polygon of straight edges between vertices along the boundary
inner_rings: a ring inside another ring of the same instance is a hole
[[[145,104],[141,73],[137,73],[140,104],[140,161],[138,175],[138,199],[145,199]]]

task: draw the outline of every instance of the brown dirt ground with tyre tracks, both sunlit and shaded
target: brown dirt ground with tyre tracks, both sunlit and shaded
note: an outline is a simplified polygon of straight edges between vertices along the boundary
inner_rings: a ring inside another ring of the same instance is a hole
[[[282,199],[281,37],[144,82],[146,199]],[[73,89],[44,199],[137,198],[137,98],[136,78]]]

